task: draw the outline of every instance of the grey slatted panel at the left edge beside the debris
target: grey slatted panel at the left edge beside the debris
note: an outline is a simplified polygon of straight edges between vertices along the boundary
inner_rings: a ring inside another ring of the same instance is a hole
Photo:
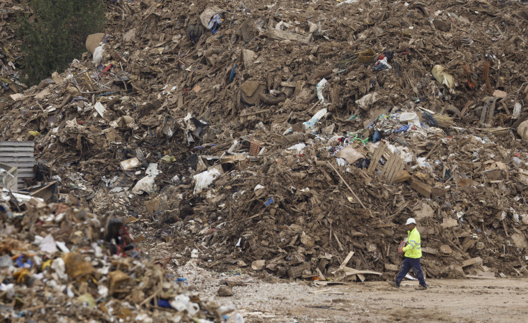
[[[15,166],[18,169],[18,188],[24,188],[22,178],[32,179],[35,174],[34,142],[0,142],[0,163]]]

